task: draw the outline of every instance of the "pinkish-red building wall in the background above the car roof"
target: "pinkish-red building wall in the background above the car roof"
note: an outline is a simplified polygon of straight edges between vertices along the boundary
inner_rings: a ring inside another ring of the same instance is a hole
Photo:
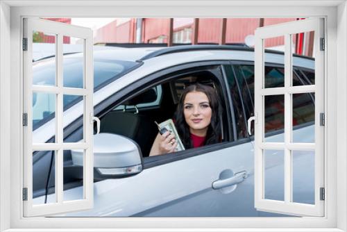
[[[269,18],[264,19],[263,26],[273,24],[281,24],[297,20],[296,18]],[[198,43],[219,44],[221,37],[221,18],[201,18],[198,23]],[[252,40],[254,31],[260,27],[260,19],[258,18],[242,18],[227,19],[226,23],[226,44],[246,43],[248,37]],[[192,31],[194,27],[193,18],[177,18],[174,19],[174,43],[191,43]],[[136,19],[120,22],[117,20],[99,28],[96,31],[94,43],[110,42],[110,43],[133,43],[135,42]],[[142,42],[143,43],[167,43],[169,35],[169,19],[168,18],[145,18],[142,21]],[[187,38],[189,37],[189,38]],[[293,38],[294,51],[298,54],[312,56],[312,44],[310,40],[313,35],[310,33],[301,33]],[[298,42],[297,42],[298,41]],[[285,39],[283,37],[269,38],[265,40],[265,47],[276,50],[282,50]],[[248,44],[252,47],[252,43]]]

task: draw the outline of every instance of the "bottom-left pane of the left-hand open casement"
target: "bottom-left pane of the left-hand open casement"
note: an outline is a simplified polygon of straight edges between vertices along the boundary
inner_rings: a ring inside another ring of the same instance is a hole
[[[54,167],[56,151],[33,152],[33,204],[56,202]],[[46,196],[47,194],[47,196]]]

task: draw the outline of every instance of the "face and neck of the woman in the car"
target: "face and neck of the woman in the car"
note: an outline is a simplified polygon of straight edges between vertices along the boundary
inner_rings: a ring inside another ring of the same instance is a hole
[[[203,92],[188,92],[183,102],[185,122],[190,133],[205,136],[211,123],[212,109],[208,96]]]

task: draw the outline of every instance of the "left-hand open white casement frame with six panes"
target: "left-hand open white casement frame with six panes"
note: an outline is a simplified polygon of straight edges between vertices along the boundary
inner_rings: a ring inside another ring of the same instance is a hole
[[[46,19],[25,18],[24,38],[28,40],[27,51],[23,52],[24,65],[24,113],[28,115],[27,126],[24,126],[24,188],[27,199],[24,201],[24,216],[48,216],[67,213],[76,210],[86,210],[93,207],[93,49],[91,28],[52,22]],[[56,36],[56,84],[54,86],[33,85],[33,31],[51,33]],[[83,88],[67,88],[63,84],[63,36],[83,40]],[[54,143],[33,142],[33,93],[41,92],[55,94],[56,141]],[[64,94],[83,96],[83,141],[64,142],[63,140],[63,97]],[[64,150],[83,150],[83,199],[64,201],[63,196],[63,156]],[[56,202],[51,204],[33,203],[33,152],[54,151],[55,153],[55,193]]]

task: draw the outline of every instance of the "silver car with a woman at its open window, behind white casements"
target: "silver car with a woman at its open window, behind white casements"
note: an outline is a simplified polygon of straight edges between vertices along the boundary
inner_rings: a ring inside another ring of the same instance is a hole
[[[67,87],[83,85],[83,55],[65,55]],[[54,60],[35,62],[33,81],[54,81]],[[265,80],[284,83],[283,53],[266,53]],[[314,59],[294,56],[294,85],[314,84]],[[158,133],[154,122],[174,116],[185,86],[204,83],[219,93],[222,142],[149,157]],[[54,142],[54,98],[33,95],[33,141]],[[94,208],[68,217],[278,217],[254,207],[253,135],[247,119],[254,110],[254,50],[232,45],[94,51]],[[284,99],[265,99],[267,141],[283,137]],[[64,141],[83,136],[81,98],[64,96]],[[294,140],[314,138],[314,94],[294,94]],[[95,127],[95,131],[96,131]],[[284,156],[266,154],[265,197],[284,199]],[[35,204],[54,199],[54,154],[33,154]],[[314,154],[294,156],[293,197],[314,204]],[[83,198],[83,157],[64,151],[64,199]],[[304,177],[303,177],[304,176]]]

